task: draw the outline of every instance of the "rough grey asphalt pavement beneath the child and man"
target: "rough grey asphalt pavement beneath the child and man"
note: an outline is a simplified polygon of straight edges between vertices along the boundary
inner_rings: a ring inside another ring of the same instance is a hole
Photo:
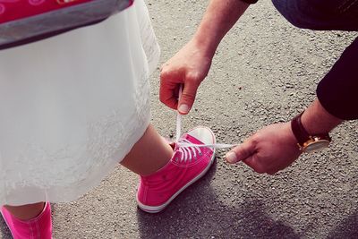
[[[164,63],[191,38],[208,1],[147,3]],[[315,98],[317,83],[356,36],[294,28],[259,1],[218,47],[183,131],[206,125],[218,142],[240,143],[289,120]],[[170,137],[175,112],[158,101],[158,73],[152,124]],[[358,122],[331,136],[329,149],[273,176],[228,165],[219,150],[208,175],[156,215],[137,208],[138,177],[118,166],[80,200],[54,205],[54,238],[358,238]],[[10,238],[3,221],[0,228],[0,238]]]

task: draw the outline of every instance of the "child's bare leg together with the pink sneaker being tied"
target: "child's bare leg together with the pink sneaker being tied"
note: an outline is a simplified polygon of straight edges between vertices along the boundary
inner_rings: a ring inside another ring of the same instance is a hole
[[[193,144],[182,148],[181,143]],[[208,172],[215,150],[197,147],[214,144],[215,135],[206,127],[183,134],[174,149],[149,125],[122,165],[141,175],[137,202],[141,209],[156,213],[165,209],[189,185]]]

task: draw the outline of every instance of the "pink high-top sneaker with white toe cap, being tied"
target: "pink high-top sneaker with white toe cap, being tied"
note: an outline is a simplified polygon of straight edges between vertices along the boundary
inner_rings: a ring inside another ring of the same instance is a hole
[[[174,145],[174,155],[153,175],[141,176],[137,192],[138,206],[157,213],[189,185],[205,175],[214,162],[215,149],[209,147],[180,147],[181,144],[214,144],[215,135],[207,127],[197,127],[183,134]]]

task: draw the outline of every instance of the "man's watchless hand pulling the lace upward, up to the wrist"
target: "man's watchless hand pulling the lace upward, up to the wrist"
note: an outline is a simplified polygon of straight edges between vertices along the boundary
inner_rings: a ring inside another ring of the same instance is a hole
[[[163,64],[160,73],[159,98],[167,107],[186,115],[192,108],[201,81],[209,73],[211,56],[204,55],[194,39]],[[178,91],[183,85],[182,97]]]

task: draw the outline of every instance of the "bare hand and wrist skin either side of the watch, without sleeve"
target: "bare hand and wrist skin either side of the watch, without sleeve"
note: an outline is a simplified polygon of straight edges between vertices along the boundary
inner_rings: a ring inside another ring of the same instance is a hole
[[[311,135],[331,131],[341,119],[330,115],[315,99],[302,115],[303,127]],[[270,124],[226,154],[229,163],[243,161],[258,173],[273,175],[290,166],[303,152],[297,145],[291,124]]]

